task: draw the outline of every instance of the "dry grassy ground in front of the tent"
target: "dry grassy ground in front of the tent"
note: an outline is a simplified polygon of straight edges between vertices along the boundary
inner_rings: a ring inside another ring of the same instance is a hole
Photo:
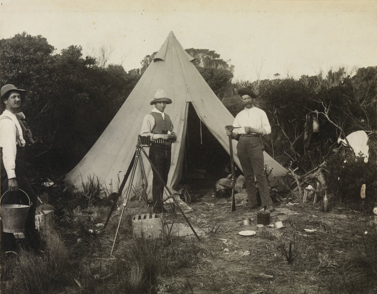
[[[196,192],[204,196],[190,204],[187,217],[205,232],[200,239],[169,233],[136,239],[131,218],[147,210],[131,201],[110,256],[120,210],[102,230],[96,224],[106,220],[109,207],[71,209],[57,221],[59,235],[46,235],[49,246],[42,252],[21,250],[2,260],[2,293],[377,292],[377,238],[365,212],[332,203],[324,213],[320,203],[282,202],[277,209],[292,212],[278,216],[284,228],[245,237],[238,233],[256,230],[256,210],[237,207],[230,213],[204,203],[214,200],[209,190]],[[250,226],[242,227],[243,217],[253,219]],[[179,213],[164,221],[185,224]]]

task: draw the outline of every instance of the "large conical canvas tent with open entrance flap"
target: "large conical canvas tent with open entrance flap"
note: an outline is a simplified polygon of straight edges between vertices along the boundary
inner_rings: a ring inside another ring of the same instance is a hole
[[[204,81],[192,63],[193,60],[194,58],[185,52],[173,32],[170,32],[109,126],[77,166],[66,175],[66,184],[80,189],[81,179],[85,181],[88,176],[94,175],[108,188],[112,182],[113,189],[116,191],[114,183],[118,174],[120,179],[123,179],[135,152],[143,118],[153,109],[150,101],[153,100],[158,89],[163,89],[173,101],[165,111],[172,119],[177,134],[177,142],[172,145],[168,187],[174,188],[181,179],[189,103],[194,107],[202,123],[229,154],[229,141],[224,127],[233,124],[234,117]],[[241,169],[236,145],[237,142],[233,140],[234,162]],[[145,149],[149,151],[148,148]],[[269,176],[270,183],[277,185],[277,179],[284,178],[288,171],[266,152],[264,152],[264,159],[265,164],[273,168]],[[150,189],[152,168],[145,158],[143,164]],[[133,184],[137,189],[141,189],[140,165],[138,165]],[[152,197],[151,194],[149,197]]]

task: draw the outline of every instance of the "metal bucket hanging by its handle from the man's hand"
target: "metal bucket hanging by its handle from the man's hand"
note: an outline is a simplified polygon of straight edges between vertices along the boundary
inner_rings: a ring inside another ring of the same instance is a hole
[[[29,205],[23,204],[1,204],[0,212],[1,219],[3,223],[3,231],[5,233],[21,233],[25,228],[26,218],[28,217],[29,208],[32,205],[28,194],[25,191],[18,189],[19,191],[25,193],[29,199]],[[5,193],[9,192],[5,191]],[[1,196],[5,195],[5,193]],[[0,199],[1,201],[1,199]]]

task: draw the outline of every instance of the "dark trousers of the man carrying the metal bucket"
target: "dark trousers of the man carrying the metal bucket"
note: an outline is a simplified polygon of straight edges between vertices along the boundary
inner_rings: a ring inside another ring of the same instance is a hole
[[[8,190],[8,176],[3,164],[3,154],[0,152],[0,168],[1,168],[1,194]],[[17,146],[17,155],[15,160],[16,168],[15,173],[17,177],[18,188],[25,191],[28,194],[31,207],[28,211],[28,216],[25,223],[25,238],[29,246],[36,249],[39,246],[40,238],[38,231],[35,228],[35,208],[37,207],[37,195],[31,188],[28,179],[25,174],[25,148]],[[7,192],[1,201],[1,204],[24,204],[29,205],[29,199],[22,192]],[[16,240],[13,233],[3,232],[1,228],[1,250],[2,251],[14,251],[16,249]]]

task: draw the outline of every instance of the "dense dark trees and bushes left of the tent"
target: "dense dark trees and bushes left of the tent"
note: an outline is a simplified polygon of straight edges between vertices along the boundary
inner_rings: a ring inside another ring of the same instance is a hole
[[[58,54],[54,50],[46,38],[25,32],[0,40],[1,86],[28,90],[21,111],[37,138],[29,160],[56,174],[70,170],[86,154],[136,77],[120,65],[99,67],[95,58],[83,57],[81,46]]]

